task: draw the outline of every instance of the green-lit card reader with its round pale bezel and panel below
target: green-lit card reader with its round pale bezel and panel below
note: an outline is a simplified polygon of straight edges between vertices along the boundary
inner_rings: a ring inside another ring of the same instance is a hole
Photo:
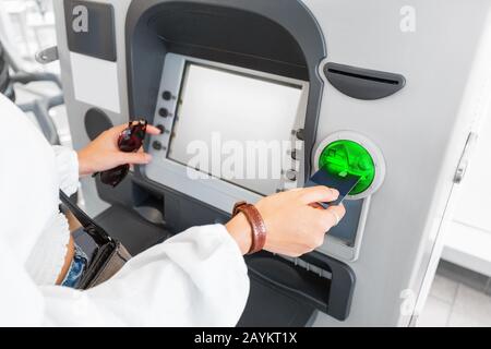
[[[346,193],[349,191],[343,201],[346,216],[337,227],[328,231],[320,250],[345,261],[356,261],[362,245],[372,196],[381,188],[385,177],[382,152],[367,137],[344,131],[322,141],[316,147],[313,161],[315,174],[311,181],[319,183],[315,179],[321,177],[323,183],[335,183],[325,185],[338,185],[339,192],[343,188],[348,188]],[[356,185],[351,178],[359,179]]]

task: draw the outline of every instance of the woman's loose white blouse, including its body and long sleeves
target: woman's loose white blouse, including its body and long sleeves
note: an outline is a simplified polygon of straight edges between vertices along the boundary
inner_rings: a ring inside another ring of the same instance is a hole
[[[37,286],[28,256],[58,210],[53,148],[0,95],[0,326],[233,326],[249,278],[221,225],[195,227],[135,256],[88,291]],[[71,169],[72,174],[77,169]],[[137,233],[137,231],[135,231]]]

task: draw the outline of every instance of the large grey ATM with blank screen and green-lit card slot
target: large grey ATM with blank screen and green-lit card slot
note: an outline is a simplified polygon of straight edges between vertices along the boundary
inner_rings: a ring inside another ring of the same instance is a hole
[[[354,174],[347,216],[318,251],[247,257],[239,326],[416,324],[491,98],[489,0],[55,0],[55,11],[49,52],[75,148],[141,117],[164,131],[145,145],[153,163],[121,185],[82,180],[131,253],[321,168]],[[217,134],[282,141],[290,161],[261,180],[191,165],[190,144],[213,147]]]

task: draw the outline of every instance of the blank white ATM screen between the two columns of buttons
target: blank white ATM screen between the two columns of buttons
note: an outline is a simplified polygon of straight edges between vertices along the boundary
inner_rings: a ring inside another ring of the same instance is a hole
[[[291,151],[301,97],[300,85],[188,62],[167,157],[270,195]]]

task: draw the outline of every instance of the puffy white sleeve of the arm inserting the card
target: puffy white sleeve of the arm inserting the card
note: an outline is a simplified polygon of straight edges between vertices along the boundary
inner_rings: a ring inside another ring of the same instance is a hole
[[[235,326],[249,278],[239,246],[215,225],[154,246],[88,291],[44,287],[39,292],[46,326]]]

